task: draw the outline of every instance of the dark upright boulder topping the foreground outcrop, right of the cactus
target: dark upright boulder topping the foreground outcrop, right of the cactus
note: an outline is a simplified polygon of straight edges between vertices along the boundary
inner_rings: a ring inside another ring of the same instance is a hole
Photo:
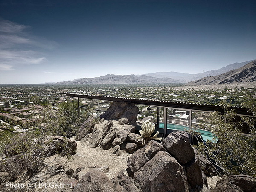
[[[195,158],[195,153],[189,142],[189,134],[177,131],[169,134],[162,145],[182,165]]]

